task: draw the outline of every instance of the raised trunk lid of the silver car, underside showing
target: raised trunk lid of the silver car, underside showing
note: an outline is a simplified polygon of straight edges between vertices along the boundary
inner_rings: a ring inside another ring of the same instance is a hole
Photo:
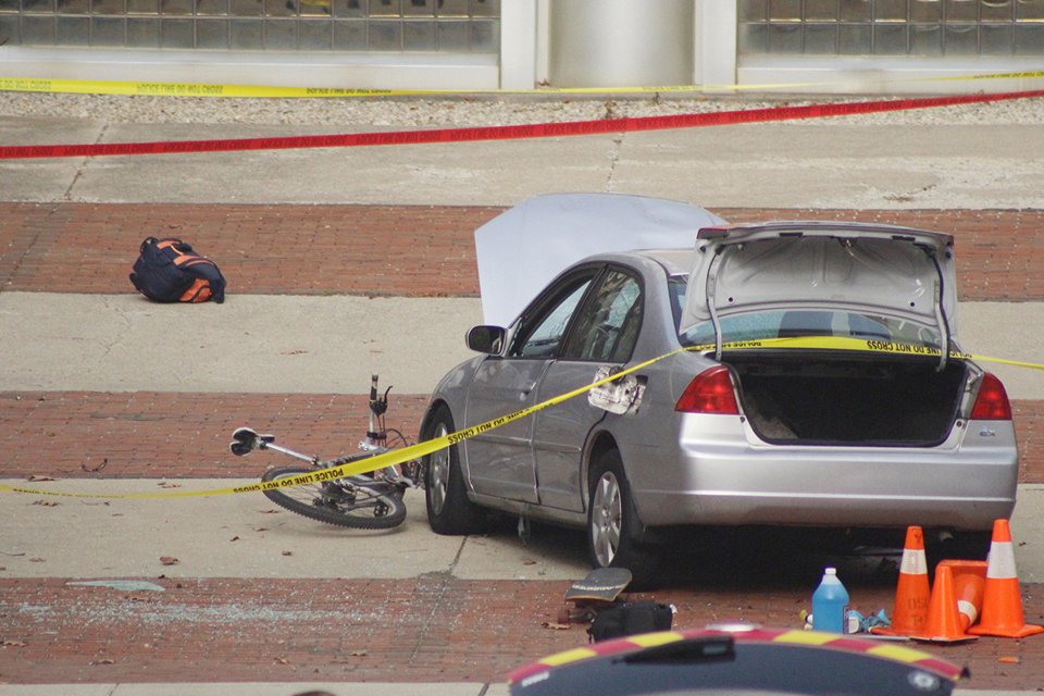
[[[780,222],[701,229],[681,331],[779,309],[881,313],[934,326],[957,316],[950,235],[865,223]]]

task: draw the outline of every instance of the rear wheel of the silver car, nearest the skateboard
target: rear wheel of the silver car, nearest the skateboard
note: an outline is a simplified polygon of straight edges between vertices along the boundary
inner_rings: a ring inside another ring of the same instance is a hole
[[[631,587],[648,587],[659,567],[660,549],[642,543],[631,486],[616,449],[601,455],[591,470],[587,487],[587,550],[593,568],[626,568]]]

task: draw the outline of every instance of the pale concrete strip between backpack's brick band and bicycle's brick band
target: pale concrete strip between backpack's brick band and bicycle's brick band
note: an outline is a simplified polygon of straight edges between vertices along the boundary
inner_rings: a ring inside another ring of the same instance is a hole
[[[472,357],[464,333],[481,323],[476,298],[229,295],[185,312],[132,294],[9,291],[0,294],[9,360],[0,391],[362,394],[377,373],[395,394],[431,394]],[[1044,364],[1044,302],[961,302],[959,326],[968,352]],[[192,369],[170,369],[178,362]],[[1010,398],[1044,399],[1044,371],[987,369]]]

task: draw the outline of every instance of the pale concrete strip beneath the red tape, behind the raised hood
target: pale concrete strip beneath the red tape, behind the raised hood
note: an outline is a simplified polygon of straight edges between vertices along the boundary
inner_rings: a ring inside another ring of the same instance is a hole
[[[995,107],[984,105],[983,109]],[[942,110],[940,110],[942,111]],[[945,116],[943,116],[945,117]],[[3,144],[374,132],[0,119]],[[545,192],[705,208],[1044,208],[1044,128],[844,119],[461,142],[0,161],[5,200],[513,206]]]

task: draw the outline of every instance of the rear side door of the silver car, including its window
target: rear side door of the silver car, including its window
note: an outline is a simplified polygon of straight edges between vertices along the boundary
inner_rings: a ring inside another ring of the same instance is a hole
[[[644,309],[638,274],[608,268],[576,311],[559,359],[547,366],[537,398],[544,401],[591,383],[600,365],[627,362]],[[605,415],[606,411],[582,397],[536,413],[533,450],[540,505],[584,509],[582,452],[587,433]]]

